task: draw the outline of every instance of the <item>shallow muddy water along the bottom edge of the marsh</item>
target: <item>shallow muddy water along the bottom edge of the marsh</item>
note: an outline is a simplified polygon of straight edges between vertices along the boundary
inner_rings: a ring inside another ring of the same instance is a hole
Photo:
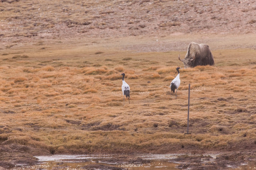
[[[112,155],[52,155],[37,156],[39,163],[34,166],[19,165],[12,170],[84,170],[87,165],[104,165],[119,167],[127,170],[178,170],[179,163],[169,162],[177,155],[138,155],[150,163],[108,163],[102,160],[111,158]],[[214,156],[214,155],[212,155]],[[245,163],[238,168],[230,170],[256,170],[256,161]]]

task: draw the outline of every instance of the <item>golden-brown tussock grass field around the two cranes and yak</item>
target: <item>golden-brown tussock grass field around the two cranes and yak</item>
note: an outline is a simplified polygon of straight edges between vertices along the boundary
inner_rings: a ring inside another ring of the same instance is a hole
[[[209,37],[186,36],[158,41],[210,42]],[[0,143],[49,153],[255,150],[256,50],[234,48],[234,41],[246,42],[239,37],[210,42],[215,66],[181,69],[176,100],[169,85],[175,68],[183,67],[178,55],[184,56],[186,48],[137,52],[154,44],[154,37],[6,47],[0,51]],[[130,104],[123,103],[122,72],[130,85]],[[184,135],[188,84],[192,134]]]

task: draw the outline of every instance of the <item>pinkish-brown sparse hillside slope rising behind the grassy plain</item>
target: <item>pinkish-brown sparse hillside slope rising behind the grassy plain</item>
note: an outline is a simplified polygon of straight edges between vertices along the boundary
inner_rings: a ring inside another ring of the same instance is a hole
[[[1,48],[46,39],[256,33],[254,0],[1,0]]]

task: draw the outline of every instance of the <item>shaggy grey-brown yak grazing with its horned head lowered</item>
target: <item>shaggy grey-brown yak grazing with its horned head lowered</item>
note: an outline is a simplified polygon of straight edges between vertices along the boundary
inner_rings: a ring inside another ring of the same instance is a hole
[[[180,56],[179,56],[179,60]],[[193,68],[196,66],[214,65],[213,56],[209,46],[206,44],[198,44],[191,42],[188,47],[187,54],[183,60],[184,68]]]

